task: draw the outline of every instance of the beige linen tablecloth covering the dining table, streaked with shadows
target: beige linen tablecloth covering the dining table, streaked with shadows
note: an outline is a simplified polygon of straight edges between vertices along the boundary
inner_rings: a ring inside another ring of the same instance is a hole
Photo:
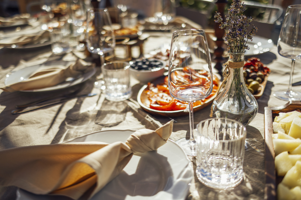
[[[170,44],[172,33],[168,31],[151,31],[144,41],[144,52]],[[265,198],[265,140],[264,140],[264,108],[266,106],[281,106],[287,102],[273,96],[275,91],[287,89],[290,78],[291,60],[277,52],[274,45],[269,51],[257,55],[247,55],[260,58],[260,61],[270,68],[271,72],[262,96],[257,100],[258,113],[253,121],[246,126],[244,179],[236,187],[219,190],[207,187],[198,181],[196,157],[188,156],[194,171],[194,177],[189,184],[186,199],[264,199]],[[5,85],[7,75],[20,69],[47,62],[75,61],[78,58],[86,61],[93,59],[85,51],[70,52],[55,55],[51,47],[38,48],[1,48],[0,49],[0,87]],[[212,59],[212,61],[214,61]],[[214,66],[214,63],[212,64]],[[171,119],[174,120],[170,140],[189,138],[189,116],[168,117],[152,115],[143,109],[137,101],[140,88],[145,85],[131,78],[132,97],[123,101],[109,101],[101,88],[95,82],[101,78],[101,68],[96,66],[96,73],[85,82],[54,91],[37,92],[4,92],[0,90],[0,150],[31,146],[49,145],[72,140],[100,130],[139,130],[143,128],[156,130]],[[301,62],[296,60],[293,82],[301,81]],[[96,93],[86,98],[75,98],[67,102],[47,106],[29,112],[13,115],[16,105],[22,105],[35,100],[64,95],[79,90],[80,94]],[[301,85],[293,86],[293,90],[301,91]],[[210,118],[211,104],[194,112],[194,127]],[[114,135],[112,135],[114,137]],[[0,160],[0,170],[1,170]],[[17,187],[0,187],[0,199],[16,199]]]

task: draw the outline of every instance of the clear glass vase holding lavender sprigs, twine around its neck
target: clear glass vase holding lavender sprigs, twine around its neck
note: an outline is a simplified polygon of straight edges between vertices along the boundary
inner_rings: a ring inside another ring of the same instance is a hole
[[[244,61],[245,52],[228,52],[228,61]],[[229,68],[229,72],[225,87],[213,101],[213,113],[218,118],[234,119],[247,125],[257,114],[258,103],[244,82],[243,67]]]

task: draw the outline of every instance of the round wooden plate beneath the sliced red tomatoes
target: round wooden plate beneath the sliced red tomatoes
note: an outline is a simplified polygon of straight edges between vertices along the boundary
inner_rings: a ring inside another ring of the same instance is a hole
[[[155,85],[161,84],[164,82],[164,77],[165,76],[160,76],[159,78],[152,81],[152,83],[154,83]],[[145,94],[146,90],[147,90],[147,85],[143,85],[137,95],[137,101],[138,101],[139,105],[146,112],[148,112],[152,115],[161,116],[161,117],[181,117],[181,116],[185,116],[185,115],[189,114],[189,112],[184,112],[184,110],[161,111],[161,110],[151,109],[150,107],[147,106],[150,104],[150,101],[148,100],[148,97]],[[199,111],[199,110],[203,109],[204,107],[208,106],[210,103],[213,102],[215,97],[216,97],[216,94],[213,95],[212,97],[210,97],[208,100],[206,100],[204,104],[193,107],[193,112]]]

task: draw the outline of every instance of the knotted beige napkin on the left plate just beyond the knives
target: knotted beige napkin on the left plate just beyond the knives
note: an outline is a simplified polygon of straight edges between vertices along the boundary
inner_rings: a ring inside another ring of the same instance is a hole
[[[82,59],[78,59],[75,64],[71,64],[65,69],[61,69],[59,67],[51,69],[42,68],[41,71],[34,72],[30,76],[31,78],[25,81],[7,85],[0,89],[5,92],[14,92],[51,87],[64,82],[69,77],[77,78],[83,73],[92,71],[94,67],[95,64],[89,64]]]

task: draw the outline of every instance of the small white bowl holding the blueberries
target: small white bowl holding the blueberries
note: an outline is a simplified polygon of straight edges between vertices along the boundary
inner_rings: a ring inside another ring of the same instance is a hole
[[[154,59],[154,60],[162,62],[163,65],[160,68],[158,67],[152,70],[136,70],[130,67],[129,69],[130,69],[131,76],[142,83],[151,82],[152,80],[160,76],[163,76],[166,62],[158,59]]]

